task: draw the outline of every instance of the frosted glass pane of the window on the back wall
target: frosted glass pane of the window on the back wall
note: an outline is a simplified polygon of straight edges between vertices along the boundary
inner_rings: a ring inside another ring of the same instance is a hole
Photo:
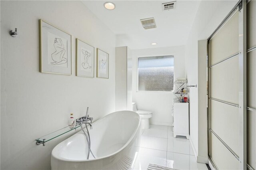
[[[138,91],[173,91],[174,57],[139,57]]]

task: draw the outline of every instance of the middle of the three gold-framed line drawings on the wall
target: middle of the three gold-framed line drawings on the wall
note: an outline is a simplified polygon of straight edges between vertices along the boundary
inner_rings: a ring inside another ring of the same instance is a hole
[[[76,76],[94,77],[94,47],[76,39]]]

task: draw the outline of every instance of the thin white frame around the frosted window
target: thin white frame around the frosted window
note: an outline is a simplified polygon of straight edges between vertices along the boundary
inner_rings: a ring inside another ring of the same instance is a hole
[[[137,93],[173,93],[174,89],[172,91],[139,91],[139,71],[138,71],[138,65],[139,65],[139,58],[142,57],[164,57],[164,56],[173,56],[173,83],[175,80],[175,55],[174,54],[162,54],[162,55],[138,55],[136,57],[136,92]],[[174,88],[174,87],[173,87]]]

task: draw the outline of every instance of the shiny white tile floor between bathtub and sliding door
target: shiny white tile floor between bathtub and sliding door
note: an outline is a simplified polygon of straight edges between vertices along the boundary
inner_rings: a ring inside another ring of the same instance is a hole
[[[189,140],[173,137],[172,127],[150,125],[142,130],[140,151],[133,170],[146,170],[157,164],[178,170],[208,170],[206,164],[196,162]]]

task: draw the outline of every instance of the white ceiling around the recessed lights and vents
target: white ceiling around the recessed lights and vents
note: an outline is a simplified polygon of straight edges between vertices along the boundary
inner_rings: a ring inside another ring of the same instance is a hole
[[[82,1],[114,34],[117,46],[130,49],[185,45],[200,4],[198,0],[177,0],[176,9],[162,11],[162,3],[172,0],[114,0],[114,10],[106,10],[101,0]],[[140,19],[154,17],[156,28],[144,30]],[[152,42],[158,43],[151,45]]]

